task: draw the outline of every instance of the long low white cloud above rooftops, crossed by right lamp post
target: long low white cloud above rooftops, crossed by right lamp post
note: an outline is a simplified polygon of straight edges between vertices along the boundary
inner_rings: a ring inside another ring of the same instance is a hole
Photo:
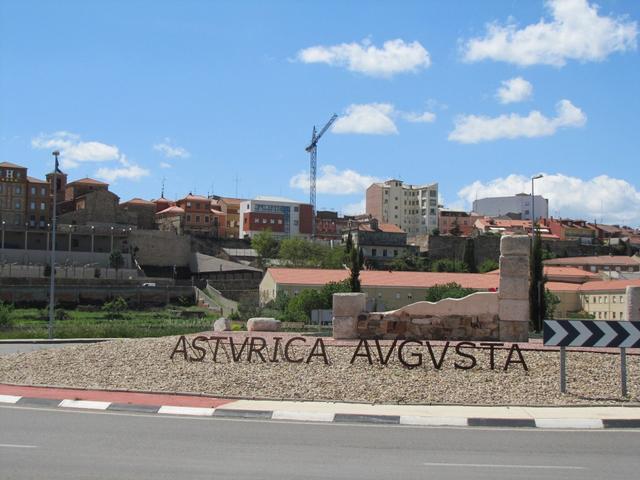
[[[463,187],[458,197],[469,207],[476,198],[514,195],[531,191],[531,178],[512,174]],[[549,199],[549,214],[565,218],[640,225],[640,191],[626,180],[599,175],[581,179],[564,174],[544,174],[536,181],[536,194]]]

